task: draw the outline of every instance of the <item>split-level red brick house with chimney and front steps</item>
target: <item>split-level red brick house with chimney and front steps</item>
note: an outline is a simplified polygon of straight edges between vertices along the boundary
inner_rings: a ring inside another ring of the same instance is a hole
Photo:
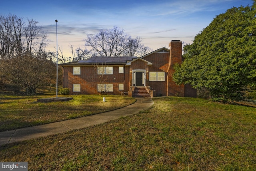
[[[128,94],[132,97],[178,95],[196,97],[190,85],[172,81],[173,65],[182,63],[182,42],[172,40],[160,48],[138,57],[91,57],[88,60],[60,64],[63,87],[71,94]]]

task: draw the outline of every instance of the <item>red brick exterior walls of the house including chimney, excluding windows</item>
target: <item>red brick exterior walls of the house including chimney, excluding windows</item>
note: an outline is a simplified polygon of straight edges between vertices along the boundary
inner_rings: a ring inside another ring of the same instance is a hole
[[[119,73],[119,67],[113,66],[112,75],[104,75],[108,77],[105,84],[113,84],[113,92],[108,94],[121,94],[118,89],[118,84],[124,84],[124,91],[128,92],[132,86],[132,70],[146,70],[146,86],[150,86],[156,91],[156,95],[179,95],[184,97],[184,85],[176,85],[172,81],[174,73],[174,64],[182,63],[182,42],[172,41],[169,44],[170,53],[150,54],[143,58],[153,65],[148,66],[148,63],[143,60],[131,62],[130,66],[124,66],[124,73]],[[64,66],[63,87],[68,87],[72,94],[99,94],[97,84],[99,78],[94,66],[80,66],[81,75],[73,75],[72,66]],[[149,81],[149,72],[166,72],[165,82]],[[73,84],[81,85],[81,92],[73,92]]]

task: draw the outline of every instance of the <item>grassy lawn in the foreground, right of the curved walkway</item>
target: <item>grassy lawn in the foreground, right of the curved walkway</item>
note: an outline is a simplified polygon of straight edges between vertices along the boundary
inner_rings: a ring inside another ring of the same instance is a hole
[[[253,171],[256,108],[155,97],[136,115],[0,147],[29,170]]]

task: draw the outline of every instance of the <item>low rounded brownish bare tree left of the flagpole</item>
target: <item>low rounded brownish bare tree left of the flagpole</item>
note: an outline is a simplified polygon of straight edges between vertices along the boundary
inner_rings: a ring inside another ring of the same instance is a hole
[[[16,87],[17,92],[20,89],[26,93],[35,93],[36,88],[51,80],[55,65],[42,56],[35,58],[33,55],[24,55],[11,58],[5,61],[4,76],[9,84]]]

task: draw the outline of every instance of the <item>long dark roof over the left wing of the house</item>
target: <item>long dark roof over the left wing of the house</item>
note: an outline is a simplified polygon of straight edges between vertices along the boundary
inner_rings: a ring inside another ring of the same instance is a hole
[[[134,56],[93,56],[87,60],[80,60],[75,62],[64,63],[60,65],[92,65],[100,64],[126,64],[138,57]]]

